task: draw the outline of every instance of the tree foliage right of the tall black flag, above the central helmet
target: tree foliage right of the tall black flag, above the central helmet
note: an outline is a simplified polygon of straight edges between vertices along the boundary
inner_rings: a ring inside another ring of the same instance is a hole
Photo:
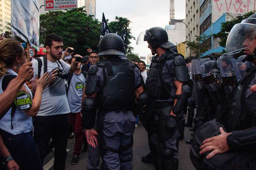
[[[130,40],[135,40],[135,37],[132,36],[132,32],[131,29],[129,28],[131,21],[127,18],[124,17],[119,17],[119,16],[115,16],[115,21],[109,22],[108,23],[108,27],[110,29],[110,31],[112,33],[116,33],[119,36],[123,35],[123,31],[125,29],[125,27],[127,26],[127,34],[126,34],[126,53],[132,53],[133,51],[133,47],[130,46],[129,44],[131,44]]]

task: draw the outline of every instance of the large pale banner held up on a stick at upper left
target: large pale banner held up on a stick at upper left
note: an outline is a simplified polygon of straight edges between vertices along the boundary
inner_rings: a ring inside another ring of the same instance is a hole
[[[25,42],[39,47],[39,3],[37,0],[12,0],[11,28]]]

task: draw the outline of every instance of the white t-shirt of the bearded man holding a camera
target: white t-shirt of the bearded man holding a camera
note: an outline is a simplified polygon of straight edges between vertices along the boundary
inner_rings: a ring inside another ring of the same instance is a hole
[[[42,60],[41,77],[44,74],[44,61]],[[63,67],[65,73],[68,73],[71,66],[65,63],[62,59],[59,60],[62,64],[58,63],[60,67]],[[58,61],[57,61],[58,62]],[[50,62],[47,60],[47,71],[52,71],[57,68],[57,62]],[[34,74],[38,74],[38,62],[32,60],[32,67],[34,68]],[[59,114],[69,113],[70,109],[66,97],[65,80],[58,77],[52,84],[47,85],[42,94],[42,102],[37,116],[52,116]]]

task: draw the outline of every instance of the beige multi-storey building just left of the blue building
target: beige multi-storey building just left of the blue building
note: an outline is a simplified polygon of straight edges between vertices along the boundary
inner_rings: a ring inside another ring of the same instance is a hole
[[[199,36],[199,0],[186,0],[186,41],[193,42]],[[185,59],[194,57],[195,53],[186,45]]]

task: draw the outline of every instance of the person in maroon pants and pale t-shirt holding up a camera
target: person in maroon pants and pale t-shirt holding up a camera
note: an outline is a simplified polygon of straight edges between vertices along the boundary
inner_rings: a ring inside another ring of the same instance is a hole
[[[75,62],[74,56],[71,58],[70,64],[73,62]],[[74,153],[71,160],[71,165],[75,165],[79,162],[79,156],[83,144],[83,136],[85,135],[85,133],[82,131],[82,115],[80,112],[85,83],[86,73],[81,70],[81,63],[78,63],[76,71],[69,73],[67,90],[67,101],[71,112],[69,114],[69,119],[75,132],[75,146],[73,149]],[[85,143],[84,146],[87,146],[87,143]]]

